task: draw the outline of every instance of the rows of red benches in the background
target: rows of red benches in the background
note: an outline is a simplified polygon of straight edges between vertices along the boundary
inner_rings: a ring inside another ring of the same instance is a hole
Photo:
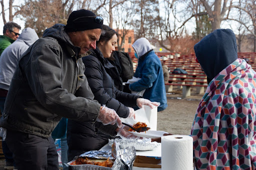
[[[248,64],[251,65],[252,69],[256,70],[256,53],[246,52],[237,53],[238,58],[249,59]],[[137,58],[134,53],[129,53],[133,62],[133,69],[135,71],[137,66]],[[165,84],[166,92],[173,91],[173,86],[178,89],[182,89],[182,97],[188,97],[191,94],[191,88],[196,88],[197,94],[203,94],[207,87],[207,78],[198,63],[195,62],[195,54],[182,55],[174,53],[156,53],[158,57],[166,57],[165,65],[170,69],[170,76],[168,83]],[[187,74],[172,74],[171,72],[175,68],[184,69]]]

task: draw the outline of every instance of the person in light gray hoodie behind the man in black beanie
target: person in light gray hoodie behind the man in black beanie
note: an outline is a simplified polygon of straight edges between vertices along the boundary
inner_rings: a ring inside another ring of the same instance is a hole
[[[34,29],[25,28],[16,41],[5,48],[0,56],[0,110],[3,111],[4,102],[9,90],[11,78],[16,69],[21,55],[32,45],[38,36]],[[1,128],[2,129],[2,128]],[[4,130],[1,130],[4,131]],[[5,157],[5,169],[13,168],[14,160],[4,138],[2,140],[2,152]]]

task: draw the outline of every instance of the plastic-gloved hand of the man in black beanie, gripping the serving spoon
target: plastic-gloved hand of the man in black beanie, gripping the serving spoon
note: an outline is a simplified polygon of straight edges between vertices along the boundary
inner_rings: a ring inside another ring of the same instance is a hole
[[[101,122],[103,125],[114,125],[117,123],[118,127],[122,127],[122,122],[116,112],[105,105],[100,109],[96,121]]]

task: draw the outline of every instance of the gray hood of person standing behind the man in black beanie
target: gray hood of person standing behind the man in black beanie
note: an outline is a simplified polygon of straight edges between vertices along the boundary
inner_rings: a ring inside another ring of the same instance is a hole
[[[32,28],[25,28],[21,32],[21,34],[18,36],[16,41],[23,41],[27,46],[32,45],[36,40],[38,39],[38,36],[34,29]]]

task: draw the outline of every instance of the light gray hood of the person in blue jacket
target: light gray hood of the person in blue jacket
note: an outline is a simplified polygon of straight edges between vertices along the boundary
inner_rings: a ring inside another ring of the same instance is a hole
[[[138,58],[152,49],[151,44],[146,38],[137,39],[131,46],[137,53]]]

